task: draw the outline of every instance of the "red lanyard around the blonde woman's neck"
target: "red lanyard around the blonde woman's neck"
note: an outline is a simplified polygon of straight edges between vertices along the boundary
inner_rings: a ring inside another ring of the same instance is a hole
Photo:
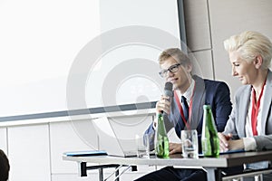
[[[252,111],[251,111],[251,127],[252,133],[254,136],[257,136],[257,113],[260,106],[260,100],[263,96],[264,88],[266,85],[266,81],[262,87],[261,93],[259,94],[258,100],[256,102],[256,91],[252,87]]]

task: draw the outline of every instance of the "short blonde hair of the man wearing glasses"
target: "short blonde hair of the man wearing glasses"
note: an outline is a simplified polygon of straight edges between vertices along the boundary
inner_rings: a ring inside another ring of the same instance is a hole
[[[174,58],[177,62],[180,62],[182,65],[191,64],[187,54],[182,52],[179,48],[170,48],[160,53],[159,63],[165,62],[170,57]]]

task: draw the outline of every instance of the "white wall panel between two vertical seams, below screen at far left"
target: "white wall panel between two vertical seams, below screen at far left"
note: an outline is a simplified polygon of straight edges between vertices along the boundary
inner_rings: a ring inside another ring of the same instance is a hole
[[[10,180],[51,179],[48,125],[8,128]]]

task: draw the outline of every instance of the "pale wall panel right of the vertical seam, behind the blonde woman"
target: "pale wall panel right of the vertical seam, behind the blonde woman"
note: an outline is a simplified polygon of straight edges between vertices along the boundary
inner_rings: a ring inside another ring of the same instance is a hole
[[[230,35],[247,30],[264,33],[272,40],[271,8],[271,0],[209,0],[215,78],[228,81],[232,97],[241,83],[231,76],[228,53],[224,50],[223,41]]]

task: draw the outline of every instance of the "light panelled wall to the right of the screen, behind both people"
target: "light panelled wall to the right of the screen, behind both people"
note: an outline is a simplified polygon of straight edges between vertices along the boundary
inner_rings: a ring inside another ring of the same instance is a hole
[[[204,77],[227,81],[233,98],[241,83],[231,76],[223,41],[246,30],[264,33],[272,40],[272,1],[184,0],[184,6],[187,43],[198,57]]]

